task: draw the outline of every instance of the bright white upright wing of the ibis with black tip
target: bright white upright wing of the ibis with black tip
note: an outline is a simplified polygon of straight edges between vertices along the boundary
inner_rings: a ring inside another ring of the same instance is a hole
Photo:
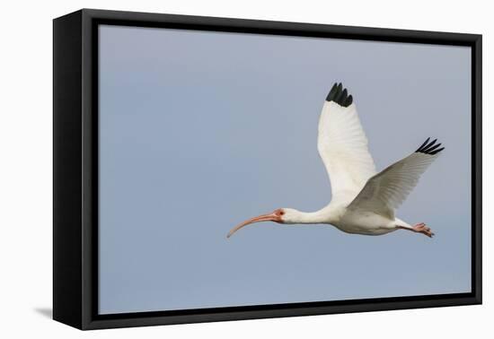
[[[375,175],[375,164],[353,98],[334,84],[322,107],[317,149],[331,181],[332,200],[351,202]]]

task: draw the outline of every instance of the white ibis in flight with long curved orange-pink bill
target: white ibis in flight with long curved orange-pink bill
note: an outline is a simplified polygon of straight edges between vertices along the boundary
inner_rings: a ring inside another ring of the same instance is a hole
[[[432,238],[434,233],[424,222],[411,226],[397,218],[395,210],[445,149],[440,146],[437,139],[428,138],[417,151],[376,172],[353,97],[341,83],[335,83],[322,106],[317,140],[319,155],[331,181],[331,203],[311,213],[278,208],[240,223],[230,230],[227,238],[254,222],[321,223],[365,235],[410,230]]]

